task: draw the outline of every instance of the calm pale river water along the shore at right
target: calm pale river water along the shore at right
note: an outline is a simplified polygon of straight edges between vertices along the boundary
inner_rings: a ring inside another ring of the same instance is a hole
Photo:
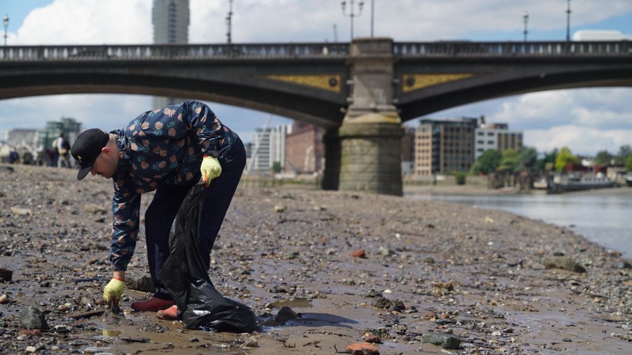
[[[617,189],[619,190],[619,189]],[[632,196],[583,195],[405,195],[419,200],[441,200],[479,208],[504,210],[531,219],[568,227],[607,249],[632,258]]]

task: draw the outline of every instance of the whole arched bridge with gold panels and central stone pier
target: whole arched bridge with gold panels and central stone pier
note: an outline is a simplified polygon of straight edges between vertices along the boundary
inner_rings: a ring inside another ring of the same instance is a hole
[[[324,188],[401,195],[401,123],[518,93],[632,85],[632,43],[0,47],[0,99],[135,93],[219,102],[327,128]]]

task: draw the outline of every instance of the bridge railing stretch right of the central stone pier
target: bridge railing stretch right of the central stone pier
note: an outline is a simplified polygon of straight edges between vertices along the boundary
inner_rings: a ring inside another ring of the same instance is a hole
[[[632,42],[399,42],[401,57],[632,56]]]

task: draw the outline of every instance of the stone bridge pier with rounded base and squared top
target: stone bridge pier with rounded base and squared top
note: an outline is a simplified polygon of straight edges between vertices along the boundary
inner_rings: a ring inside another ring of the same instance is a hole
[[[340,141],[338,188],[401,196],[403,130],[401,118],[392,104],[392,39],[354,40],[347,62],[351,64],[353,86],[351,104],[337,132]],[[329,145],[325,142],[325,154],[335,148],[335,139],[331,139]],[[335,160],[325,169],[334,164]]]

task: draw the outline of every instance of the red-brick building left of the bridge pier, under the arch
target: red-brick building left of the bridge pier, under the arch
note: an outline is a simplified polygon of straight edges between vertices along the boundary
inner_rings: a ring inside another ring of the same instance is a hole
[[[325,157],[324,133],[324,128],[294,121],[291,133],[285,138],[285,171],[295,174],[320,171]]]

